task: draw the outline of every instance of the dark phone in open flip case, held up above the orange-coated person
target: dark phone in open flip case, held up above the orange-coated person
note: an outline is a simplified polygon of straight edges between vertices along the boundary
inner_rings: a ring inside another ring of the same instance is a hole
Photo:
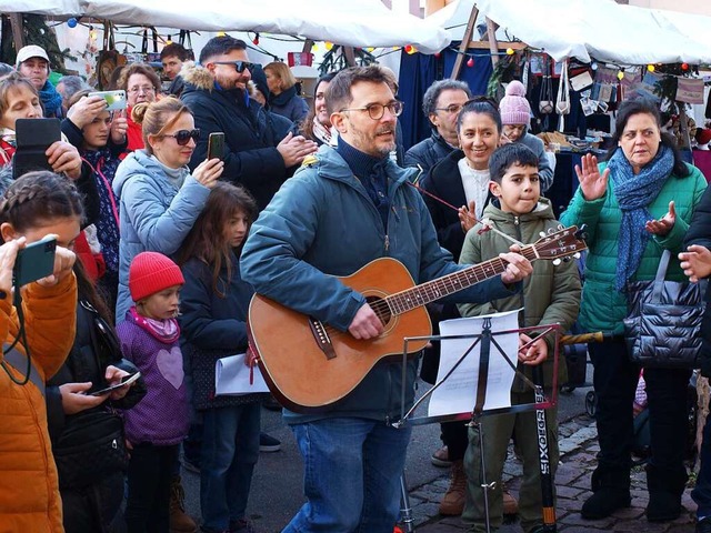
[[[18,149],[12,158],[12,178],[34,170],[52,170],[47,149],[61,140],[59,119],[18,119],[14,123]]]

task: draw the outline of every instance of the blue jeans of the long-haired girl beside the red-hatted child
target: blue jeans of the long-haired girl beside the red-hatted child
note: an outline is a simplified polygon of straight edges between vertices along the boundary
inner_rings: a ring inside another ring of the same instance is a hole
[[[202,527],[226,531],[244,517],[259,457],[261,403],[208,409],[203,414],[200,507]]]

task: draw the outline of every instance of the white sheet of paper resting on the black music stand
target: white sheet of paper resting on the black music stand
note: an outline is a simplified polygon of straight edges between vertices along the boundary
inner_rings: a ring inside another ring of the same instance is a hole
[[[445,320],[440,322],[441,335],[467,335],[481,333],[484,318],[491,319],[491,331],[515,330],[519,328],[519,311],[495,313],[487,316],[472,316],[467,319]],[[507,333],[495,335],[499,343],[511,362],[515,365],[519,349],[519,334]],[[440,368],[437,375],[438,383],[454,366],[457,361],[474,342],[470,339],[445,339],[441,341]],[[429,416],[467,413],[474,409],[477,401],[477,385],[479,382],[479,355],[481,341],[464,358],[461,364],[433,393],[428,408]],[[489,376],[487,379],[487,398],[484,410],[511,406],[511,385],[515,378],[515,371],[499,353],[492,343],[489,355]]]

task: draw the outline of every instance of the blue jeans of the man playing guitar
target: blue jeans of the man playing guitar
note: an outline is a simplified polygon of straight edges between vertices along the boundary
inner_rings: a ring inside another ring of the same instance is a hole
[[[392,533],[411,429],[339,418],[293,424],[307,503],[282,533]]]

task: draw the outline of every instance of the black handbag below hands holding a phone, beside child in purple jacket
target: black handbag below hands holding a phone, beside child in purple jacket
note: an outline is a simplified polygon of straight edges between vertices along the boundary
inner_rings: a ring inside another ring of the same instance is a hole
[[[89,486],[110,474],[124,472],[129,454],[123,420],[106,409],[72,415],[52,453],[60,489]]]

